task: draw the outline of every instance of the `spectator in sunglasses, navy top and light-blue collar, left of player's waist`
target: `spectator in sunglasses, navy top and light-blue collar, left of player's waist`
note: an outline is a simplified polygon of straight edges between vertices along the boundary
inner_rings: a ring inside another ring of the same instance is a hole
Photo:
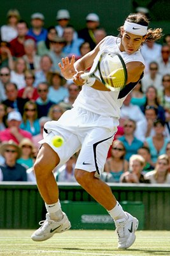
[[[47,116],[50,107],[55,104],[52,100],[48,99],[48,84],[39,83],[38,87],[38,99],[36,99],[36,105],[38,110],[38,118]]]

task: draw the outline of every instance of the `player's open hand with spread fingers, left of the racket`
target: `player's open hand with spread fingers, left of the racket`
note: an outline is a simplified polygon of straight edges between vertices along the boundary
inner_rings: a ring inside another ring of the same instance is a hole
[[[61,71],[62,76],[66,79],[72,79],[74,74],[76,74],[76,70],[74,68],[75,56],[72,55],[71,61],[69,58],[62,58],[62,63],[59,63],[59,68]]]

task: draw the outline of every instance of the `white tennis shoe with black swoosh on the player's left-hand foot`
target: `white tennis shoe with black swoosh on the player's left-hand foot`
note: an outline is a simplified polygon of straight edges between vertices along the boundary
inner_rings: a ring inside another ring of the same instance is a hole
[[[39,221],[39,225],[41,225],[38,230],[36,230],[31,238],[34,241],[45,241],[53,236],[55,233],[62,233],[69,228],[71,228],[71,224],[64,212],[63,218],[60,221],[50,220],[50,214],[46,213],[46,220]]]

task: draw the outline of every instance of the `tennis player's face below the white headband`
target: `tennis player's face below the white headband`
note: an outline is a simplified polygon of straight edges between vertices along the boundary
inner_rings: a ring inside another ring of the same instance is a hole
[[[139,47],[144,41],[145,41],[145,38],[143,36],[138,36],[138,35],[134,35],[132,33],[123,31],[120,51],[125,51],[128,54],[132,54],[138,51]]]

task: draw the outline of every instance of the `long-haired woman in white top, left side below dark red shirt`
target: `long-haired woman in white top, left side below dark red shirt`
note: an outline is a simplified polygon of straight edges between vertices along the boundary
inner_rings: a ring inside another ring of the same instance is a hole
[[[25,87],[25,70],[27,70],[27,65],[24,58],[17,58],[14,70],[11,70],[11,83],[17,84],[18,90]]]

